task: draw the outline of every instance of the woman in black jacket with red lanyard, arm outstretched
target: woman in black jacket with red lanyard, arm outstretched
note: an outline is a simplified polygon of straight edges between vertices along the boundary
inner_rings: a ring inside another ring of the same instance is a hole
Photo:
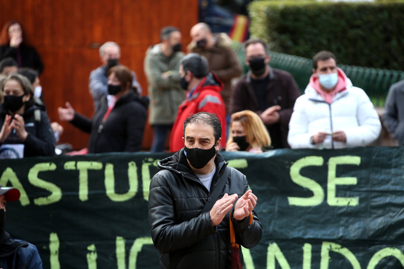
[[[140,150],[149,102],[132,89],[132,80],[127,67],[111,68],[109,94],[101,99],[92,119],[75,112],[69,102],[66,102],[67,108],[58,108],[59,119],[90,133],[88,153]]]

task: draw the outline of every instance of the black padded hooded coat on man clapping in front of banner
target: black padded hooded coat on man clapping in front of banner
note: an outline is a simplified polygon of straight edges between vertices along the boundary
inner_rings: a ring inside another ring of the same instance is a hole
[[[160,171],[150,183],[149,223],[154,245],[163,254],[160,268],[169,268],[170,259],[175,256],[181,258],[179,269],[230,268],[230,211],[217,226],[210,223],[209,211],[200,214],[227,166],[219,152],[215,164],[217,173],[209,192],[189,167],[183,149],[158,163]],[[246,177],[231,168],[219,198],[225,193],[237,193],[240,197],[247,190]],[[252,214],[250,226],[248,218],[234,221],[236,242],[245,248],[258,244],[262,235],[261,223],[254,211]]]

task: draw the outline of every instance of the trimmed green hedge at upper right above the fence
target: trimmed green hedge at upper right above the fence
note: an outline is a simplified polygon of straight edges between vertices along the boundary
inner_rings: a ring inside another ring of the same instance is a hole
[[[251,36],[276,52],[330,50],[342,64],[404,69],[404,1],[253,1],[248,10]]]

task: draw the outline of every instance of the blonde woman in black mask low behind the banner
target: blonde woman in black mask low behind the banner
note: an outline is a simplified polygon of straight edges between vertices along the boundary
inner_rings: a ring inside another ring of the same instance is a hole
[[[271,138],[261,118],[250,110],[231,115],[226,151],[260,153],[272,149]]]

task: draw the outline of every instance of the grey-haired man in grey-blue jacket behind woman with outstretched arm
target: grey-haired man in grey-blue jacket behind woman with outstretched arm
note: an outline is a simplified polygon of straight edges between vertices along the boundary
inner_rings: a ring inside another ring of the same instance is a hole
[[[94,111],[97,110],[102,96],[108,93],[108,70],[111,67],[119,65],[121,58],[121,49],[115,42],[105,42],[99,49],[102,65],[90,73],[88,88],[94,101]],[[142,87],[137,81],[136,73],[132,71],[132,87],[141,94]]]

